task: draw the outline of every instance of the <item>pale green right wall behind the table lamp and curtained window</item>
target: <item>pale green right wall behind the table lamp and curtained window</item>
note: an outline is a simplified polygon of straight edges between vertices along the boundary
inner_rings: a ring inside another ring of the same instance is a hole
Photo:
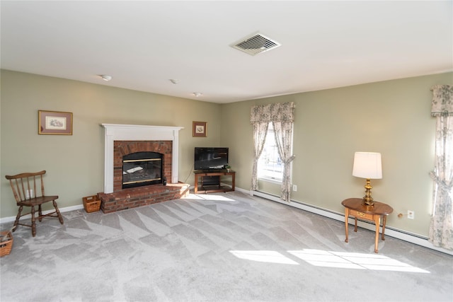
[[[372,180],[373,197],[394,208],[389,226],[428,236],[432,207],[435,119],[430,117],[431,86],[453,83],[436,74],[358,86],[297,93],[222,105],[221,141],[230,148],[236,185],[251,187],[253,129],[250,108],[296,103],[292,182],[298,202],[343,213],[340,202],[364,195],[365,180],[352,176],[355,151],[382,153],[383,178]],[[280,187],[260,182],[260,190]],[[415,211],[415,219],[398,213]]]

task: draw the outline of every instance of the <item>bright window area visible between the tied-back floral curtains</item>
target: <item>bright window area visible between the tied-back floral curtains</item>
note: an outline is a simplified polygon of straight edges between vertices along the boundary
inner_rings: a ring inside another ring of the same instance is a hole
[[[273,125],[270,122],[263,152],[258,160],[258,178],[281,182],[282,177],[283,165],[278,155],[277,145],[275,144]]]

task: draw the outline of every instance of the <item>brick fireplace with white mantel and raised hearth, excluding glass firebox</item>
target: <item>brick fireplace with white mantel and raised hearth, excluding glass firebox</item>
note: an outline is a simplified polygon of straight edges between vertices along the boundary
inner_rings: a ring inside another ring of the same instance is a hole
[[[104,192],[101,209],[104,213],[141,207],[156,202],[185,197],[189,185],[178,182],[178,132],[183,127],[102,124],[105,132]],[[156,152],[163,155],[163,177],[167,184],[122,188],[123,156],[135,152]]]

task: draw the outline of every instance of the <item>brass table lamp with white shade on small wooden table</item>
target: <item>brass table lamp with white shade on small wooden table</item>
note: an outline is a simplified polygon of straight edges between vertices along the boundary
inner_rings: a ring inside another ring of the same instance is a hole
[[[370,179],[382,178],[382,163],[381,153],[376,152],[355,152],[354,165],[352,167],[352,175],[357,178],[365,178],[365,196],[362,204],[373,206],[373,198],[371,197],[371,182]]]

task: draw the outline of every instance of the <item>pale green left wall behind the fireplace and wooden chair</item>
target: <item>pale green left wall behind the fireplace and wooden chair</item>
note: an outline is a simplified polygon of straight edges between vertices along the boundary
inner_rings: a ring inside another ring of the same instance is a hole
[[[38,110],[73,112],[73,135],[38,135]],[[101,123],[184,127],[179,180],[193,184],[193,148],[219,146],[221,120],[219,104],[2,70],[0,216],[17,214],[4,175],[47,170],[46,192],[59,195],[59,207],[102,192]],[[193,121],[207,122],[207,138],[192,137]]]

